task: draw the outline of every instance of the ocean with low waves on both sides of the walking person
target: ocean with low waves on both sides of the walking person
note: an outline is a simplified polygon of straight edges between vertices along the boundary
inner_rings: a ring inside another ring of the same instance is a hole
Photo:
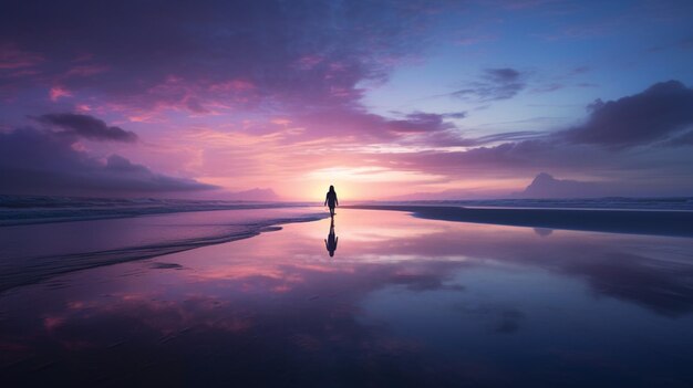
[[[692,211],[693,198],[379,202],[469,208]],[[322,203],[0,196],[0,292],[56,274],[154,258],[328,217]]]

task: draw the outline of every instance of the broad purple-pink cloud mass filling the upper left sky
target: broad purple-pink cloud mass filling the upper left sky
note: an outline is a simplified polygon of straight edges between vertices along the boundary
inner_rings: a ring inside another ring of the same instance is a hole
[[[0,13],[0,43],[44,60],[14,61],[42,74],[24,80],[25,87],[59,83],[132,108],[304,111],[355,103],[363,93],[358,83],[383,80],[425,44],[438,8],[431,1],[13,2]]]

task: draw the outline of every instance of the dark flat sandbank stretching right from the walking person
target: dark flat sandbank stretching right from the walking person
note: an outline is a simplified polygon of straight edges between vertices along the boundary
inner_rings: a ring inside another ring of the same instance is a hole
[[[509,227],[607,233],[693,237],[693,212],[671,210],[492,209],[441,206],[354,205],[345,209],[411,212],[414,217]]]

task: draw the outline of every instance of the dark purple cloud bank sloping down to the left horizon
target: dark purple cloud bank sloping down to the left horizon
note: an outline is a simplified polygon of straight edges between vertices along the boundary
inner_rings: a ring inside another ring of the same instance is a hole
[[[31,127],[0,134],[0,191],[50,195],[152,195],[215,189],[156,174],[112,155],[105,162],[72,146],[76,137]]]

